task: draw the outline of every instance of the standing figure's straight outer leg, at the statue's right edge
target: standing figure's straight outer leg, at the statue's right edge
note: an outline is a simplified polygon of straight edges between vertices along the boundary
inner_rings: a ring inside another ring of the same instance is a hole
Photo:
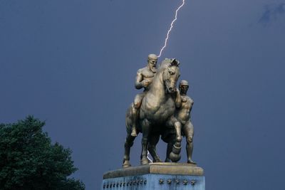
[[[186,152],[187,152],[187,163],[189,164],[196,164],[192,160],[192,152],[193,152],[193,135],[194,135],[194,127],[192,125],[192,122],[188,121],[186,124],[182,127],[183,132],[185,133],[186,137]]]

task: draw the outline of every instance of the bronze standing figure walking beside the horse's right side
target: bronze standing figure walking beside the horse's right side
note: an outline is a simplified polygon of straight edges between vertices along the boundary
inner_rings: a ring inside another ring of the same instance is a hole
[[[192,152],[193,152],[192,139],[194,134],[194,128],[190,116],[190,112],[192,110],[194,101],[191,99],[191,97],[187,96],[188,88],[189,88],[188,82],[186,80],[181,80],[179,84],[181,106],[177,108],[176,117],[177,120],[182,125],[182,132],[184,132],[187,141],[186,145],[187,163],[195,164],[195,162],[192,161]]]

